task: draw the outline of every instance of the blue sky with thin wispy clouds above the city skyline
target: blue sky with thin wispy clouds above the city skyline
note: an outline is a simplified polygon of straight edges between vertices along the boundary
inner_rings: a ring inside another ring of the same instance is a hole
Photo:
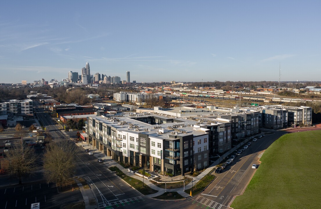
[[[320,80],[321,1],[1,1],[0,82]]]

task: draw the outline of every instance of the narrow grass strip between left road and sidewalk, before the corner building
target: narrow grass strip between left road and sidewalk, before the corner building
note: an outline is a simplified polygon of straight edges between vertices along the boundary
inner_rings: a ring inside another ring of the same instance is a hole
[[[149,195],[154,194],[158,191],[150,188],[145,183],[143,184],[142,181],[134,179],[132,177],[127,176],[125,173],[123,173],[121,170],[119,170],[116,166],[109,167],[110,171],[116,171],[117,176],[119,176],[122,180],[126,181],[130,186],[135,188],[137,191],[142,193],[143,195]],[[146,179],[146,182],[148,180]]]

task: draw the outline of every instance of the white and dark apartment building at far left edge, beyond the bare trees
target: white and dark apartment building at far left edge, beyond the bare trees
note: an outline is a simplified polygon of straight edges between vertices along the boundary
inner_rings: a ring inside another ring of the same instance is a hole
[[[33,115],[32,110],[32,100],[9,100],[9,102],[2,102],[0,103],[0,115],[8,115],[8,116],[15,116],[15,115]]]

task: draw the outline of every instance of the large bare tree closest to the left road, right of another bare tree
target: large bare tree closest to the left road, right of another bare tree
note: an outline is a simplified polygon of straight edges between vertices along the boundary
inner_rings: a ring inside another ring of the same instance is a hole
[[[75,170],[75,147],[74,144],[53,142],[47,147],[44,155],[44,176],[47,182],[56,182],[62,188],[74,174]]]

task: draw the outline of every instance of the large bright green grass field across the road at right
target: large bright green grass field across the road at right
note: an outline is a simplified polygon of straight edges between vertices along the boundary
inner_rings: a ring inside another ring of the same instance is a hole
[[[261,164],[234,209],[319,208],[321,131],[283,135],[263,154]]]

